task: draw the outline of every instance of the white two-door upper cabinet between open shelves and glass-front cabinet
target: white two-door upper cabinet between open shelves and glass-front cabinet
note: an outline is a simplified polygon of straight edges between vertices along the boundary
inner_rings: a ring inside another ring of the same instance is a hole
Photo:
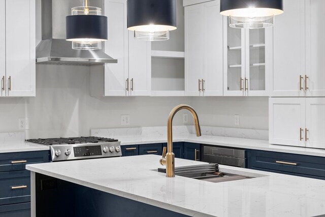
[[[219,1],[185,7],[185,96],[222,96]]]

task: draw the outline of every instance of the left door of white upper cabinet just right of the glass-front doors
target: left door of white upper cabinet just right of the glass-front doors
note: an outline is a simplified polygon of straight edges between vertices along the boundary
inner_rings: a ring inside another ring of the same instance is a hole
[[[322,1],[322,0],[321,0]],[[305,1],[284,0],[284,13],[273,27],[272,97],[303,97],[299,76],[305,75]],[[302,81],[303,82],[303,81]]]

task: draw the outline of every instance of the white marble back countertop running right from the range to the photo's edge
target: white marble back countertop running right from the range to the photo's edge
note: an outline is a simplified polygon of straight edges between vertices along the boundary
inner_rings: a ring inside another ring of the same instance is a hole
[[[165,143],[166,136],[134,136],[134,137],[119,137],[121,145],[135,145],[135,144],[150,144],[150,143]],[[207,145],[218,145],[226,147],[237,147],[246,149],[257,149],[267,151],[277,151],[284,153],[306,154],[310,156],[325,157],[325,149],[305,148],[284,145],[272,145],[268,140],[259,139],[245,139],[225,136],[211,136],[202,135],[197,137],[195,134],[176,135],[173,137],[173,142],[193,142]]]

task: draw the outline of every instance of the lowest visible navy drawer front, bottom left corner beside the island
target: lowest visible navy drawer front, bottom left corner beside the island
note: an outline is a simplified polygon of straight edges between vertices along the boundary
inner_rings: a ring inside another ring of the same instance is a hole
[[[0,206],[0,217],[29,217],[30,203]]]

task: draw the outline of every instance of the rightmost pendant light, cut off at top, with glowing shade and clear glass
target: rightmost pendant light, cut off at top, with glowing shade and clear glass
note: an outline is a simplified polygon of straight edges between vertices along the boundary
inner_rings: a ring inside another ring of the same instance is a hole
[[[283,13],[282,0],[220,0],[220,14],[234,28],[266,28]]]

